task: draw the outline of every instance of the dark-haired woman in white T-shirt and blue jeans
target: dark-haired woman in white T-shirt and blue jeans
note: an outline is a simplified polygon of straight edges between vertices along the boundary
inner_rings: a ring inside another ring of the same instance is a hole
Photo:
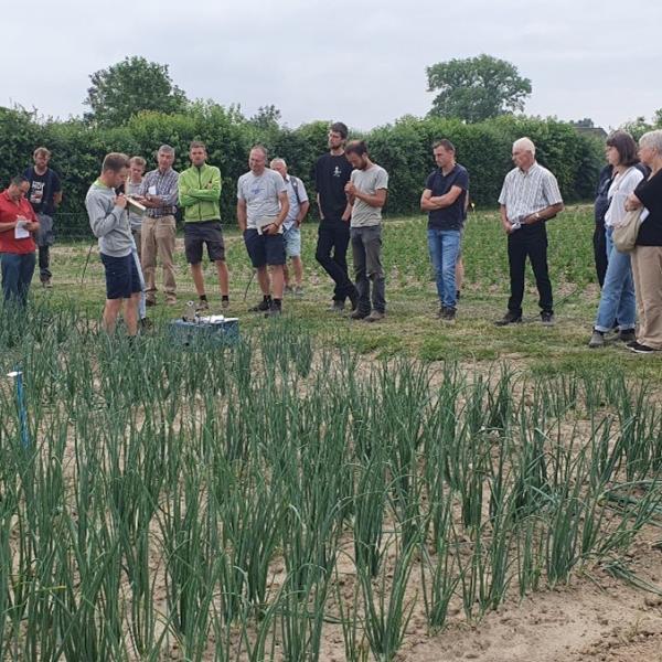
[[[618,340],[633,341],[637,314],[630,255],[617,249],[612,234],[615,227],[619,227],[626,220],[628,195],[643,180],[643,174],[636,167],[639,162],[637,143],[626,131],[616,131],[609,136],[606,153],[607,161],[612,167],[611,184],[607,193],[609,206],[605,214],[608,263],[589,348],[605,346],[605,333],[613,329],[617,320]]]

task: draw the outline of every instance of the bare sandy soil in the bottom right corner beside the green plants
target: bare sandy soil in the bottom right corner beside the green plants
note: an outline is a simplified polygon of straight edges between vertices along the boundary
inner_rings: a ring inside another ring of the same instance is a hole
[[[649,530],[630,558],[654,584],[662,583],[658,540],[660,531]],[[662,596],[596,568],[591,579],[506,602],[478,626],[457,622],[428,637],[417,615],[410,630],[401,650],[407,662],[662,662]]]

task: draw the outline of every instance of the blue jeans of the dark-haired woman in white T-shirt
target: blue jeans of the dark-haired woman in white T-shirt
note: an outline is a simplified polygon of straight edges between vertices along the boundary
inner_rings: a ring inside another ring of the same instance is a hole
[[[634,329],[637,321],[637,300],[630,255],[616,249],[611,239],[612,232],[611,227],[606,231],[609,261],[595,324],[596,330],[602,333],[612,329],[616,320],[618,320],[618,328],[621,331]]]

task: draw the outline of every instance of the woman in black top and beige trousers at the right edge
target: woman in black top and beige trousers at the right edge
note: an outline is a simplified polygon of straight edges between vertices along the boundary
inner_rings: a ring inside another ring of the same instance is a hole
[[[626,209],[645,207],[632,250],[639,330],[628,349],[638,354],[662,350],[662,130],[639,139],[639,157],[651,169],[628,197]]]

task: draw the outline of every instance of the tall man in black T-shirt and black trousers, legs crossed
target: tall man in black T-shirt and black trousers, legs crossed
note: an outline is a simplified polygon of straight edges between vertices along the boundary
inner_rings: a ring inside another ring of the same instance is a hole
[[[316,259],[333,278],[333,303],[331,310],[342,312],[345,300],[352,310],[359,302],[359,293],[348,275],[348,245],[350,243],[350,217],[352,206],[348,202],[345,184],[350,181],[352,166],[345,158],[344,145],[348,127],[341,121],[329,130],[329,153],[321,156],[314,167],[317,203],[320,211],[320,227]]]

